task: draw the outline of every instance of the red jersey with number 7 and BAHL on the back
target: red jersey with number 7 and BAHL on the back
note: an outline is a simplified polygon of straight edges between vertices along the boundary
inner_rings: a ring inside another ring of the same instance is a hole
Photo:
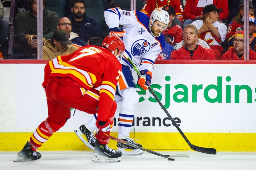
[[[86,90],[100,87],[98,114],[110,112],[122,65],[106,48],[83,46],[74,53],[58,56],[44,68],[43,86],[49,76],[69,77]]]

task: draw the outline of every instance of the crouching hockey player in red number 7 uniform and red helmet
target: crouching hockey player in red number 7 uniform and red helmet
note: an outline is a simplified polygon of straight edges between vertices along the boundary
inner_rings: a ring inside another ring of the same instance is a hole
[[[122,153],[108,147],[116,111],[114,96],[121,75],[123,41],[114,35],[107,36],[102,47],[83,46],[74,53],[58,56],[44,68],[44,82],[48,117],[18,153],[14,161],[31,161],[41,158],[36,150],[70,118],[70,108],[89,114],[98,113],[94,149],[95,162],[119,162]],[[96,88],[100,87],[100,91]]]

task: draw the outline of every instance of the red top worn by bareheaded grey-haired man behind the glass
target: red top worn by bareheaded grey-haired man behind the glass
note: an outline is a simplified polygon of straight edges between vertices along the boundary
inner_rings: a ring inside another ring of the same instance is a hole
[[[215,54],[212,49],[197,45],[194,50],[188,50],[182,46],[171,54],[173,60],[215,60]]]

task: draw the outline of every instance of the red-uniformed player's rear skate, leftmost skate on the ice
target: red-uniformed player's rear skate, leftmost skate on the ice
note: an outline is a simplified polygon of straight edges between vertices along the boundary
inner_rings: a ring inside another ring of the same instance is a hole
[[[33,161],[41,157],[41,153],[31,150],[31,145],[27,142],[23,149],[18,152],[18,158],[13,160],[13,162]]]

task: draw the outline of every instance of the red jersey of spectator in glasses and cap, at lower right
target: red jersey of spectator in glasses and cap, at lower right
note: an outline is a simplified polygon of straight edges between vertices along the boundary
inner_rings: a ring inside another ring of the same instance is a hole
[[[244,60],[244,54],[239,58],[232,48],[222,55],[221,60]],[[256,52],[251,49],[249,49],[249,60],[256,60]]]

